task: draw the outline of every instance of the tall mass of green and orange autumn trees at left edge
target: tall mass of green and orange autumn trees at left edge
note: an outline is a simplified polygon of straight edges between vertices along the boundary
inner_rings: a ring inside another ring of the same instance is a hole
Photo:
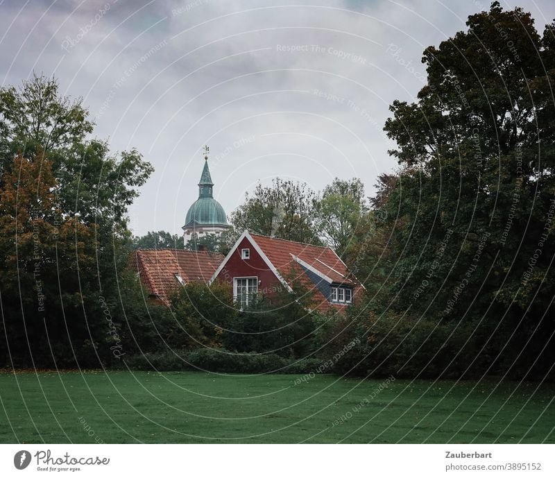
[[[87,114],[44,76],[0,89],[3,361],[99,366],[115,358],[106,331],[126,323],[125,311],[112,314],[128,267],[128,206],[153,169],[136,150],[112,154],[87,140]],[[21,323],[33,326],[22,331]]]

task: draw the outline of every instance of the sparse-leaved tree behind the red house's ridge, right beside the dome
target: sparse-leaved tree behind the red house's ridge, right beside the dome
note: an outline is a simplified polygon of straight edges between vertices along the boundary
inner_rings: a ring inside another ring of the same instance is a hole
[[[320,244],[313,225],[315,197],[306,183],[277,178],[271,187],[257,185],[253,197],[245,195],[245,203],[232,212],[232,224],[239,231]]]

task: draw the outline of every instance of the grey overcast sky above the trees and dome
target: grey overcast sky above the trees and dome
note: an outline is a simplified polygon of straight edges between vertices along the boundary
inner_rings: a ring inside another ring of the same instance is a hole
[[[295,3],[291,6],[291,3]],[[501,1],[536,28],[552,0]],[[391,171],[388,105],[425,81],[426,46],[488,10],[478,0],[0,0],[3,85],[33,70],[83,96],[95,136],[137,147],[155,173],[130,210],[135,234],[181,234],[210,146],[214,197],[228,216],[258,181]]]

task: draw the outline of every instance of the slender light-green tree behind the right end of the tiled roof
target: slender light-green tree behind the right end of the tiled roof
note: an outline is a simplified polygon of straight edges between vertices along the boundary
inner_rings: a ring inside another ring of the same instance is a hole
[[[342,259],[355,239],[357,223],[366,212],[364,185],[357,178],[350,181],[335,178],[321,197],[314,200],[316,230]]]

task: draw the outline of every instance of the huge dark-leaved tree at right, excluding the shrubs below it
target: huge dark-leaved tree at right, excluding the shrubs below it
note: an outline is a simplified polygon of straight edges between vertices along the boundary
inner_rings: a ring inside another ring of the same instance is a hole
[[[526,370],[555,329],[555,24],[540,36],[494,2],[467,26],[425,50],[427,85],[384,128],[401,167],[384,204],[391,297],[447,321],[503,318],[513,339],[495,366],[522,352]]]

